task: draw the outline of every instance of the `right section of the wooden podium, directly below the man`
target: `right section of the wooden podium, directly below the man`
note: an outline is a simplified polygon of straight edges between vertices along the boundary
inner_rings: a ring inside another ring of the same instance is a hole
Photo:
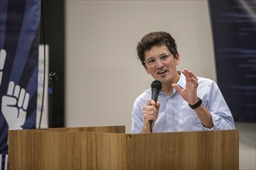
[[[133,134],[128,169],[238,169],[238,131]]]

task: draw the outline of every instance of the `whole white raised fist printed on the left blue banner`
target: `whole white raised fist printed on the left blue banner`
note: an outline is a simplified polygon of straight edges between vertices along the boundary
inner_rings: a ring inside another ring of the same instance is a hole
[[[26,109],[29,104],[29,93],[20,89],[14,82],[9,83],[7,95],[2,97],[2,114],[9,124],[9,130],[22,129],[26,121]]]

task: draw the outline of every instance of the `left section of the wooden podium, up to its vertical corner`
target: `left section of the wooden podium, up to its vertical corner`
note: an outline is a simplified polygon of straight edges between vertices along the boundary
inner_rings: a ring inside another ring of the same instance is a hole
[[[118,134],[124,131],[124,126],[9,131],[9,169],[120,168],[126,134]]]

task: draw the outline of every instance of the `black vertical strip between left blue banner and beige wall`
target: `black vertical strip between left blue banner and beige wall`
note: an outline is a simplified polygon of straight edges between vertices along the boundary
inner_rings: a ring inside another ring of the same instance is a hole
[[[62,0],[41,1],[40,44],[49,45],[49,73],[58,76],[52,95],[53,128],[64,127],[64,8]]]

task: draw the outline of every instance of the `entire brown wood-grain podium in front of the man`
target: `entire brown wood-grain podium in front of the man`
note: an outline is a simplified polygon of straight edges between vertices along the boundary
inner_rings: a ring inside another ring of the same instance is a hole
[[[124,126],[9,131],[9,169],[238,169],[232,131],[125,134]]]

